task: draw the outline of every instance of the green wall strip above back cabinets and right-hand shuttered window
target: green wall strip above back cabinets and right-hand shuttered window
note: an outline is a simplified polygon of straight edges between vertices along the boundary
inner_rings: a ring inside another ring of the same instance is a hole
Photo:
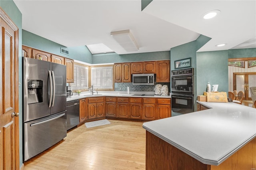
[[[151,53],[122,54],[106,53],[92,55],[92,64],[123,63],[133,61],[154,61],[170,59],[170,51],[158,51]]]

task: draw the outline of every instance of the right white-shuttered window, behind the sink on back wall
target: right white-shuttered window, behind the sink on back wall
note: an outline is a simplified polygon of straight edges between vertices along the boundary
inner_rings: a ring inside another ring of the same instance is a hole
[[[113,67],[91,67],[92,85],[96,89],[114,89]]]

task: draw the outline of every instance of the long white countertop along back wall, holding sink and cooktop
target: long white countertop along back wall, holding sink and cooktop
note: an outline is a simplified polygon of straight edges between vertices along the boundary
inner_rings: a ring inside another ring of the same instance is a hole
[[[162,95],[154,95],[154,96],[133,96],[134,94],[152,94],[152,92],[130,92],[130,94],[127,94],[127,92],[115,92],[115,91],[110,91],[106,92],[104,91],[103,93],[98,92],[98,95],[90,95],[90,93],[81,93],[80,95],[77,95],[77,93],[74,93],[71,97],[67,97],[67,101],[73,101],[73,100],[78,100],[78,99],[83,99],[86,97],[100,97],[100,96],[110,96],[110,97],[156,97],[156,98],[171,98],[171,96],[162,96]],[[154,93],[153,93],[154,94]]]

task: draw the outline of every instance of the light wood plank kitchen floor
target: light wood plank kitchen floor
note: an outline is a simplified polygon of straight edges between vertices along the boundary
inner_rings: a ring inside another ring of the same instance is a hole
[[[24,162],[24,170],[145,170],[146,130],[141,122],[68,131],[67,137]]]

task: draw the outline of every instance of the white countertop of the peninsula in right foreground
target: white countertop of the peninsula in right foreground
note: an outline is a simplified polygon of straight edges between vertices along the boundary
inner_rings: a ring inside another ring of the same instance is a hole
[[[256,137],[256,109],[236,103],[143,124],[143,128],[204,164],[219,165]]]

